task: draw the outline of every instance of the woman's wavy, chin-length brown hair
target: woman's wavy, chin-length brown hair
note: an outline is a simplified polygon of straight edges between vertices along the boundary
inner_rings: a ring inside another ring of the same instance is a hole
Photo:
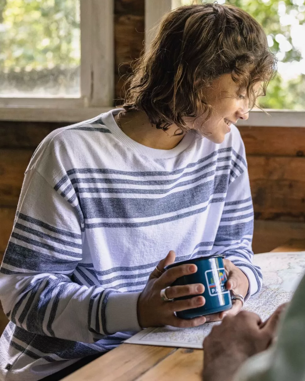
[[[276,58],[262,26],[233,5],[181,6],[165,14],[149,50],[135,62],[123,107],[144,111],[163,130],[175,123],[183,133],[184,117],[207,113],[209,119],[212,107],[204,91],[228,73],[239,93],[246,90],[252,107],[255,83],[263,83],[265,94]]]

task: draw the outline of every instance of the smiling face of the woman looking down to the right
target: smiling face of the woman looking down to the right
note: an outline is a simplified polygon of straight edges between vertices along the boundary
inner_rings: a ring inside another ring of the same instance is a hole
[[[261,83],[254,86],[257,92]],[[205,122],[203,114],[186,119],[188,126],[214,143],[222,143],[225,134],[231,131],[230,125],[238,119],[247,120],[249,117],[249,99],[246,89],[238,94],[238,85],[232,80],[231,74],[223,74],[212,82],[207,89],[205,101],[212,106],[212,114]]]

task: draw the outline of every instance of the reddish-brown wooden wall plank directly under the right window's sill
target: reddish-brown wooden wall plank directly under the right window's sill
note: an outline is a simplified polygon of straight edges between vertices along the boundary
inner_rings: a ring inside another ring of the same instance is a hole
[[[248,156],[305,156],[305,128],[238,126],[238,129]]]

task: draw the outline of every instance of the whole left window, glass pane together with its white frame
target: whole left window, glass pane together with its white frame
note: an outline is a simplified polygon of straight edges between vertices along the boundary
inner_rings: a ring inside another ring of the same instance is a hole
[[[0,0],[0,115],[111,108],[113,14],[109,0]]]

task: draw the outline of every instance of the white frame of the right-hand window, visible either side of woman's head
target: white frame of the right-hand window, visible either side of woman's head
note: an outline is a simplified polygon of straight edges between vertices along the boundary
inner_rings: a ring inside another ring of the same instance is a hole
[[[175,0],[173,0],[173,3]],[[172,9],[172,0],[145,0],[145,42],[146,48],[149,46],[156,26],[161,21],[162,16]],[[241,126],[270,126],[270,127],[305,127],[305,110],[278,110],[265,109],[252,110],[248,120],[239,120]]]

